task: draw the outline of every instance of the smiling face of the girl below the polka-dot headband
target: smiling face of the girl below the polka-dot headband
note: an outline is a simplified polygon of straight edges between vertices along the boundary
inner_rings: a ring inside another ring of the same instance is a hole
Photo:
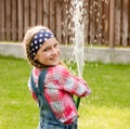
[[[60,48],[55,38],[48,39],[38,50],[35,60],[43,65],[55,66],[58,64]]]

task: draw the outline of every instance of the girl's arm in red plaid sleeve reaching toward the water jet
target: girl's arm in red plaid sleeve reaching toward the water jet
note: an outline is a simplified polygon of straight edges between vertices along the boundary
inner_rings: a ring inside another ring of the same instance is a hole
[[[82,78],[74,76],[64,67],[61,68],[62,69],[58,73],[60,83],[65,91],[77,96],[86,96],[91,93],[90,88],[87,86],[87,82]]]

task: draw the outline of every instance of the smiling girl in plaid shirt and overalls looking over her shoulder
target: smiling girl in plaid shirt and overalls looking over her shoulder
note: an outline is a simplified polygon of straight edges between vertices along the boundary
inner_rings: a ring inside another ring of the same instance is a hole
[[[78,113],[73,95],[90,94],[87,82],[63,66],[58,59],[58,42],[49,28],[35,26],[28,29],[23,42],[27,59],[34,66],[28,86],[39,103],[38,129],[77,129]],[[34,87],[41,89],[41,94]]]

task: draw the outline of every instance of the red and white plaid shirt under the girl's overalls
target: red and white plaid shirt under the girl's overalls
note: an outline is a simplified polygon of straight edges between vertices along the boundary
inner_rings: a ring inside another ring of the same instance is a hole
[[[40,69],[34,67],[32,76],[38,85],[38,77]],[[30,81],[29,88],[35,100],[36,94],[31,90]],[[77,116],[77,109],[73,101],[73,95],[86,96],[91,93],[91,90],[87,86],[87,82],[74,75],[72,75],[65,67],[57,65],[48,68],[48,73],[44,78],[44,96],[52,108],[56,118],[64,122],[73,122]]]

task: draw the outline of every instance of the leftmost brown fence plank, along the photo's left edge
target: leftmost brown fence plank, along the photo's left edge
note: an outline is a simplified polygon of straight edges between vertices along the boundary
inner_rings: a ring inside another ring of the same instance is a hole
[[[4,0],[0,0],[0,40],[4,40]]]

